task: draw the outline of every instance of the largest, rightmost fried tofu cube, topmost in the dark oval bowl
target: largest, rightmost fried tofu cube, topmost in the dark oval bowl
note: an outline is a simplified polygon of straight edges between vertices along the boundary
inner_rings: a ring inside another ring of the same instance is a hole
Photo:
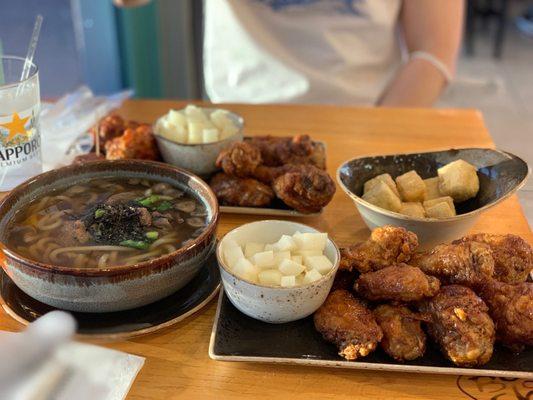
[[[464,160],[457,160],[438,169],[439,190],[456,202],[476,197],[479,191],[479,178],[476,167]]]

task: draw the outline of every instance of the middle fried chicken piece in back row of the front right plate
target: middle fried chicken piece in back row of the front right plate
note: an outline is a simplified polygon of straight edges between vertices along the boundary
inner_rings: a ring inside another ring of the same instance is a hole
[[[411,264],[444,284],[458,283],[474,288],[494,274],[492,251],[488,245],[478,242],[441,244],[415,255]]]

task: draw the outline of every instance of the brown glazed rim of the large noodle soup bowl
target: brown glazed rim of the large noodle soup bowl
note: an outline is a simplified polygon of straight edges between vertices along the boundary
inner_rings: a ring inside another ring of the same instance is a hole
[[[191,240],[191,243],[189,243],[187,246],[180,247],[173,251],[172,253],[168,253],[165,255],[162,255],[160,257],[143,261],[137,264],[131,264],[131,265],[117,265],[115,267],[108,267],[108,268],[74,268],[74,267],[65,267],[61,265],[52,265],[52,264],[44,264],[39,261],[34,261],[30,258],[24,257],[20,254],[18,254],[16,251],[8,248],[4,244],[0,243],[0,253],[5,253],[6,256],[11,257],[15,259],[17,262],[20,262],[21,264],[24,264],[25,266],[37,269],[41,271],[51,272],[51,273],[59,273],[63,275],[74,275],[74,276],[91,276],[91,277],[103,277],[103,276],[114,276],[114,275],[120,275],[122,273],[130,273],[137,270],[142,269],[154,269],[158,268],[159,265],[157,265],[156,261],[159,261],[161,259],[174,259],[178,256],[182,256],[183,254],[189,252],[190,250],[194,249],[199,243],[204,241],[207,237],[215,233],[216,227],[218,225],[218,220],[220,217],[219,207],[218,207],[218,201],[209,187],[207,183],[205,183],[202,179],[200,179],[198,176],[192,174],[191,172],[188,172],[184,169],[175,167],[173,165],[156,162],[156,161],[147,161],[147,160],[102,160],[102,161],[91,161],[89,163],[91,166],[95,165],[97,167],[96,172],[110,172],[115,173],[117,170],[120,170],[121,167],[123,172],[131,172],[128,171],[127,166],[131,164],[136,164],[138,166],[144,166],[146,169],[145,171],[149,171],[151,173],[154,173],[155,175],[158,175],[159,177],[164,177],[165,175],[160,175],[159,171],[161,170],[167,170],[169,172],[173,172],[176,174],[185,175],[189,178],[189,180],[195,181],[198,185],[202,186],[204,190],[207,193],[207,196],[204,196],[200,193],[196,193],[196,195],[200,198],[202,198],[208,206],[212,209],[212,217],[209,224],[205,227],[204,231],[196,238]],[[8,200],[15,201],[17,198],[21,197],[22,192],[27,189],[30,185],[36,185],[36,187],[33,190],[29,190],[30,193],[35,191],[36,189],[40,188],[41,185],[39,184],[40,180],[45,179],[48,176],[54,176],[54,175],[63,175],[66,176],[69,172],[72,172],[72,170],[75,170],[76,168],[79,168],[79,165],[68,165],[65,167],[61,167],[58,169],[54,169],[39,175],[34,176],[33,178],[28,179],[27,181],[21,183],[17,187],[15,187],[7,196],[5,196],[0,201],[0,210],[4,207],[7,207],[6,204],[8,203]],[[101,168],[101,169],[100,169]],[[87,177],[93,176],[94,178],[95,172],[88,172]],[[84,175],[84,173],[80,173],[79,175]],[[77,174],[76,174],[77,176]],[[7,214],[7,212],[6,212]],[[208,245],[209,247],[209,245]]]

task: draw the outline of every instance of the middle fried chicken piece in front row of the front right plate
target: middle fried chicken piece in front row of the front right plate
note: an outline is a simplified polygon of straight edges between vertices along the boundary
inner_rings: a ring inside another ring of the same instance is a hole
[[[382,304],[374,317],[383,331],[381,347],[397,361],[414,360],[426,351],[426,334],[420,326],[421,317],[401,305]]]

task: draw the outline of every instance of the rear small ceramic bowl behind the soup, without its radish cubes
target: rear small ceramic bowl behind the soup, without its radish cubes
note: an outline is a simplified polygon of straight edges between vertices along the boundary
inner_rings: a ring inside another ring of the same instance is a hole
[[[209,115],[218,110],[218,108],[202,107],[202,110]],[[183,111],[183,109],[178,111]],[[228,111],[228,116],[238,127],[238,132],[224,140],[203,144],[177,143],[158,135],[157,125],[163,116],[160,117],[154,124],[154,137],[163,160],[168,164],[183,168],[201,177],[206,177],[216,172],[215,161],[220,152],[231,143],[243,140],[243,118],[231,111]]]

